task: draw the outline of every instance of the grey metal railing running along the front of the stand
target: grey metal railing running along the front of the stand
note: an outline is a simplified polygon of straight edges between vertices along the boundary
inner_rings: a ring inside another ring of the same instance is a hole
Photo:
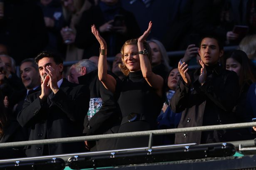
[[[234,128],[246,128],[256,126],[256,122],[249,123],[233,123],[233,124],[224,124],[224,125],[212,125],[212,126],[198,126],[198,127],[190,127],[190,128],[175,128],[175,129],[163,129],[163,130],[154,130],[154,131],[139,131],[139,132],[129,132],[129,133],[116,133],[116,134],[105,134],[105,135],[94,135],[94,136],[80,136],[80,137],[71,137],[71,138],[55,138],[55,139],[45,139],[45,140],[30,140],[30,141],[20,141],[20,142],[11,142],[11,143],[0,143],[0,148],[7,147],[17,147],[17,146],[25,146],[25,145],[37,145],[37,144],[52,144],[52,143],[67,143],[67,142],[76,142],[76,141],[84,141],[84,140],[99,140],[99,139],[107,139],[107,138],[124,138],[124,137],[134,137],[134,136],[151,136],[161,135],[161,134],[170,134],[170,133],[185,133],[192,131],[212,131],[212,130],[223,130],[223,129],[234,129]],[[93,155],[101,155],[101,154],[112,154],[118,152],[127,152],[136,150],[151,150],[155,148],[175,148],[175,147],[188,147],[191,145],[196,145],[196,143],[185,143],[178,145],[160,145],[151,147],[152,139],[149,138],[149,147],[141,147],[141,148],[127,148],[127,149],[118,149],[118,150],[103,150],[103,151],[94,151],[94,152],[83,152],[83,153],[68,153],[68,154],[59,154],[59,155],[46,155],[46,156],[37,156],[37,157],[26,157],[26,158],[10,158],[0,160],[0,163],[20,163],[20,161],[37,161],[37,160],[55,160],[56,158],[61,158],[65,161],[66,166],[68,166],[68,161],[72,157],[78,156],[93,156]],[[254,147],[256,145],[256,140],[241,140],[241,141],[231,141],[228,143],[233,144],[236,148],[241,150],[256,150]],[[221,143],[224,144],[224,143]],[[253,146],[253,147],[252,147]]]

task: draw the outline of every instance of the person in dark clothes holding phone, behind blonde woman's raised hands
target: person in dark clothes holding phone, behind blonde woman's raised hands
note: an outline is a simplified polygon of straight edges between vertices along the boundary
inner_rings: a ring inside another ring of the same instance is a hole
[[[77,26],[75,45],[85,49],[83,59],[98,55],[98,42],[90,26],[95,25],[108,44],[108,56],[120,52],[127,39],[139,37],[139,25],[131,12],[121,7],[119,0],[99,0],[98,4],[83,12]]]

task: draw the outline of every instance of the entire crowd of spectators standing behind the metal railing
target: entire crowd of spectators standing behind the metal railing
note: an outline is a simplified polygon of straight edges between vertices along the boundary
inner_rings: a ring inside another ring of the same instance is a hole
[[[2,3],[0,143],[256,118],[256,0]],[[184,56],[172,62],[167,51],[178,50]],[[76,63],[65,68],[64,61]],[[197,69],[189,69],[192,62]],[[177,133],[153,145],[253,133],[256,127]],[[31,145],[0,149],[0,158],[147,145],[148,137]]]

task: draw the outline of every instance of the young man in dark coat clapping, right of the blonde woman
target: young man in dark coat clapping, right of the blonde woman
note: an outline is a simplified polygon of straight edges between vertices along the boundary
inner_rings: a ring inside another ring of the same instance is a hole
[[[179,63],[180,83],[170,106],[182,112],[178,128],[235,123],[231,110],[239,94],[238,77],[234,71],[223,69],[218,61],[223,45],[215,37],[204,37],[199,47],[200,69],[187,73],[187,64]],[[215,143],[236,140],[230,130],[177,133],[175,143]]]

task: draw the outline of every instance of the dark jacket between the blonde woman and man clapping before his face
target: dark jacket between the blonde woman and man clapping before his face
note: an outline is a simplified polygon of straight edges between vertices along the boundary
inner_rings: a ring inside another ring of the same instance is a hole
[[[119,79],[117,76],[111,74],[117,82]],[[85,84],[89,86],[90,89],[90,98],[101,98],[102,107],[97,113],[88,119],[88,115],[85,116],[84,121],[84,131],[87,136],[89,135],[99,135],[99,134],[110,134],[118,133],[119,125],[121,123],[121,112],[117,104],[117,100],[114,97],[114,94],[107,90],[104,85],[99,81],[98,70],[92,71],[89,74],[78,77],[80,84]],[[104,139],[98,140],[96,142],[97,148],[91,148],[92,150],[110,150],[114,149],[116,139]]]

